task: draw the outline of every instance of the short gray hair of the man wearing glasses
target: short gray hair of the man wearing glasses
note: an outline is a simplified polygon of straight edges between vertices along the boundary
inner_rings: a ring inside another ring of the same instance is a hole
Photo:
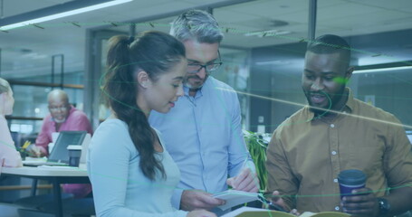
[[[180,14],[173,21],[170,34],[180,42],[196,40],[196,42],[206,43],[220,43],[224,36],[216,19],[200,10],[190,10]]]

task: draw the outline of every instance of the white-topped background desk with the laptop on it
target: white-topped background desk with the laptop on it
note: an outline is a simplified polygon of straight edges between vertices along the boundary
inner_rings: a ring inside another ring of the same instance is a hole
[[[56,166],[30,167],[23,166],[18,168],[3,167],[2,175],[17,176],[24,178],[48,180],[53,184],[53,197],[57,203],[55,215],[62,217],[62,191],[60,184],[90,184],[86,170],[76,167],[60,168]]]

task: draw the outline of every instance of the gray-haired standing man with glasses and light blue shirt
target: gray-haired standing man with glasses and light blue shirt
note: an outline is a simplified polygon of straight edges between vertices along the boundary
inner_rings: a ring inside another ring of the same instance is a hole
[[[186,47],[185,95],[168,114],[152,111],[149,122],[162,133],[180,169],[180,183],[172,197],[175,208],[219,214],[222,210],[216,206],[225,201],[211,193],[227,190],[227,184],[244,192],[259,189],[244,144],[237,95],[210,76],[222,65],[218,49],[223,33],[211,14],[191,10],[177,17],[170,34]]]

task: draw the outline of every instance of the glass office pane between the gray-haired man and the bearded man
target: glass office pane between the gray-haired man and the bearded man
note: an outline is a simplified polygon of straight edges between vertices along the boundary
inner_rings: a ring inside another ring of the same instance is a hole
[[[225,30],[223,44],[251,52],[249,129],[272,133],[303,100],[301,41],[307,37],[308,1],[253,1],[214,12]]]

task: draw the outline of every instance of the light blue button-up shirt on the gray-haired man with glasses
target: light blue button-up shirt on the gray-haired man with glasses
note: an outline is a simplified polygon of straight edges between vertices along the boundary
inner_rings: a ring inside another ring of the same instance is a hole
[[[228,175],[238,175],[252,158],[244,144],[239,99],[230,86],[209,77],[195,97],[177,100],[168,114],[152,111],[149,123],[157,128],[181,177],[172,204],[178,209],[183,190],[208,193],[227,190]]]

